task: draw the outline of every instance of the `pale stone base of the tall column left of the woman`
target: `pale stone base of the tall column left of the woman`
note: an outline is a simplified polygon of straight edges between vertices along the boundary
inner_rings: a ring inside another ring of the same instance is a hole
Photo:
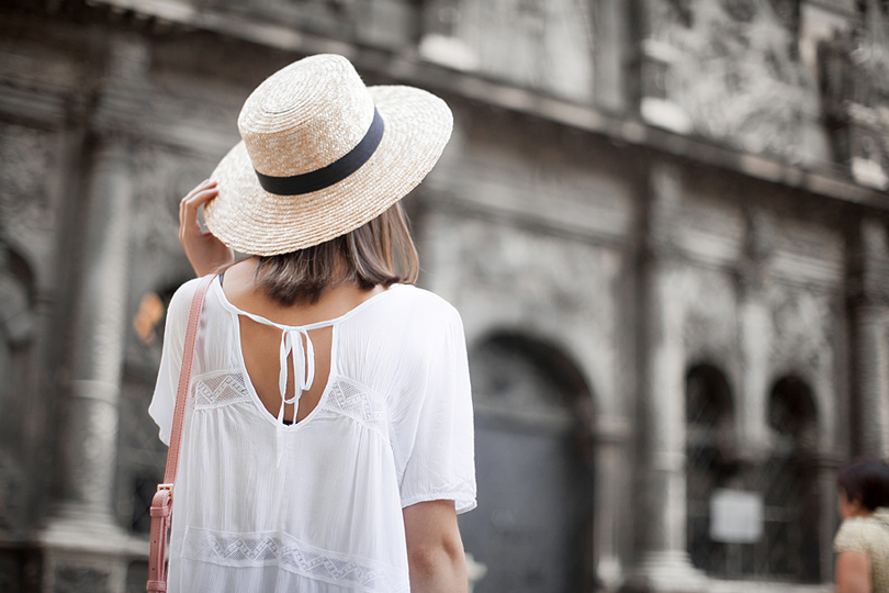
[[[44,558],[43,593],[124,593],[130,562],[148,558],[147,538],[76,505],[59,507],[37,540]]]

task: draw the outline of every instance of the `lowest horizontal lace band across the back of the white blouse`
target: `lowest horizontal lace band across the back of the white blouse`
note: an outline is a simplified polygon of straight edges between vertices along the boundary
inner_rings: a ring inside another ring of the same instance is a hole
[[[407,572],[310,546],[280,532],[225,533],[190,528],[183,557],[223,567],[273,567],[362,593],[403,593]]]

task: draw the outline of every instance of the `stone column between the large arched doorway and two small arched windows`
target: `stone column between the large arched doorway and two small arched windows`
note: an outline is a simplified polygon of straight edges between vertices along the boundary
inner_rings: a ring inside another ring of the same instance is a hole
[[[639,530],[644,551],[630,583],[645,591],[702,591],[706,584],[686,551],[685,320],[675,249],[680,200],[678,167],[656,164],[650,177],[640,344],[645,514]]]

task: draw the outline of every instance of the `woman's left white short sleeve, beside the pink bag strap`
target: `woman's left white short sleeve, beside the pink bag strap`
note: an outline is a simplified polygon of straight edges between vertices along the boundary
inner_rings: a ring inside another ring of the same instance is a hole
[[[170,300],[170,306],[167,307],[160,369],[157,373],[155,394],[148,406],[148,414],[158,426],[160,440],[168,446],[176,409],[176,392],[179,388],[179,370],[182,367],[182,349],[185,342],[189,309],[194,295],[195,282],[196,280],[192,280],[182,284]]]

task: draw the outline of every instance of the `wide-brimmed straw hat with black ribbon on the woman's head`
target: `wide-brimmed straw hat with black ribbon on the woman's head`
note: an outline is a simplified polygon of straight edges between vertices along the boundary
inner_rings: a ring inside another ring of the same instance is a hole
[[[342,56],[279,70],[244,103],[243,142],[211,179],[207,228],[237,251],[277,255],[355,231],[414,189],[453,119],[420,89],[365,87]]]

